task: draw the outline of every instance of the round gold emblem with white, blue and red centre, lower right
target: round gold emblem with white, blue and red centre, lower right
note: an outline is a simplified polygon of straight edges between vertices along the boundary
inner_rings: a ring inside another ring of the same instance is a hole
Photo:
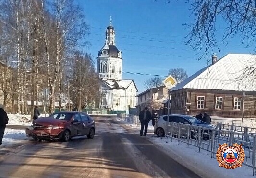
[[[233,144],[233,146],[228,146],[228,144],[219,144],[219,148],[216,153],[216,159],[219,162],[219,167],[225,167],[226,169],[235,169],[237,167],[242,167],[244,162],[244,149],[242,145]]]

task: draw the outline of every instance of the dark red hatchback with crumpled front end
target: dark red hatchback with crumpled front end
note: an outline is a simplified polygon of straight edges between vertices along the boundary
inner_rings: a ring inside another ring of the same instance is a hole
[[[82,135],[93,138],[95,122],[83,112],[56,112],[49,117],[36,119],[33,126],[26,129],[26,135],[38,141],[68,141],[71,137]]]

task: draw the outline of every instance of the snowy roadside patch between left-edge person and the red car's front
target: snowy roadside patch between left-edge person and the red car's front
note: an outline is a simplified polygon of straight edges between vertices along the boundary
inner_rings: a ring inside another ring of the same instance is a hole
[[[5,129],[1,146],[8,146],[27,140],[25,130]]]

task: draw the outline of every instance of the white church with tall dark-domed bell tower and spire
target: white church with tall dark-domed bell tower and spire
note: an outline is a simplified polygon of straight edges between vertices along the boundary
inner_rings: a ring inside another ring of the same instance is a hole
[[[138,89],[134,80],[122,79],[122,52],[116,47],[111,18],[105,34],[105,45],[96,58],[101,92],[99,108],[128,113],[129,108],[136,106]]]

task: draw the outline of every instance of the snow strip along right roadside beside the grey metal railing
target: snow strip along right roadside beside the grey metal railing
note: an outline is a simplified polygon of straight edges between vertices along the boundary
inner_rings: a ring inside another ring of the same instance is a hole
[[[122,121],[126,126],[130,126],[131,128],[139,129],[140,126]],[[153,126],[151,122],[148,125],[148,130],[153,130]],[[253,169],[243,165],[242,167],[238,167],[236,169],[225,169],[223,167],[219,167],[219,163],[216,158],[211,158],[211,153],[205,150],[200,150],[197,152],[197,147],[193,145],[187,145],[185,143],[180,142],[178,145],[178,141],[175,139],[169,138],[158,138],[154,134],[148,134],[147,137],[151,142],[158,145],[165,151],[169,156],[175,159],[177,162],[182,163],[185,167],[189,167],[192,170],[199,170],[202,174],[203,172],[207,172],[209,177],[227,177],[227,178],[250,178],[253,177]],[[199,167],[199,168],[198,168]]]

